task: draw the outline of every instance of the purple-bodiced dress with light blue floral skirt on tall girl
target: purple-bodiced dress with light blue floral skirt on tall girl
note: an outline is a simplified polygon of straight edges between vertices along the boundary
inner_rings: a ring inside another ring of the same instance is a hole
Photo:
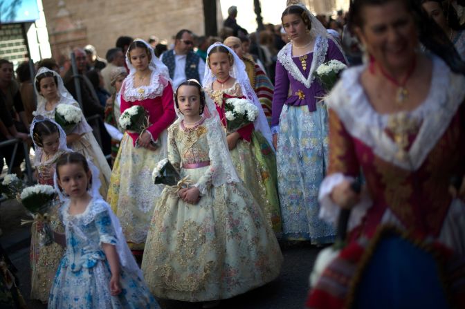
[[[313,77],[320,64],[345,62],[333,41],[316,37],[313,53],[293,57],[289,43],[278,54],[273,95],[272,132],[277,139],[277,187],[283,236],[311,243],[331,243],[334,228],[318,218],[318,188],[328,161],[325,91]],[[288,97],[288,93],[290,93]]]

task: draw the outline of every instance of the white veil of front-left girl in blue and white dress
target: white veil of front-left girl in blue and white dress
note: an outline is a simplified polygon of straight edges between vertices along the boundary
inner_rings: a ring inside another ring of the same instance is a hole
[[[111,225],[113,227],[113,230],[115,231],[115,236],[117,239],[116,252],[118,253],[118,258],[120,259],[120,265],[122,266],[122,268],[125,268],[125,270],[128,270],[130,272],[135,272],[136,274],[138,274],[138,277],[140,277],[140,279],[143,279],[142,271],[137,265],[136,260],[134,259],[134,256],[131,253],[131,250],[129,250],[129,247],[127,246],[127,241],[126,241],[125,235],[122,233],[122,227],[120,225],[120,221],[118,217],[113,213],[108,203],[105,202],[102,196],[100,195],[99,189],[100,189],[100,185],[102,184],[99,178],[100,172],[98,171],[98,168],[90,160],[87,160],[87,164],[89,165],[89,169],[91,170],[91,174],[92,174],[92,181],[91,181],[91,188],[89,189],[89,195],[92,196],[93,203],[99,203],[100,205],[105,207],[107,209],[107,212],[109,213],[109,216],[111,218]],[[60,201],[62,203],[68,202],[69,198],[67,196],[64,196],[62,190],[60,189],[60,186],[58,185],[56,170],[55,170],[55,175],[53,176],[53,184],[55,186],[55,191],[58,192]],[[76,233],[78,233],[80,237],[87,239],[86,234],[82,232],[82,230],[80,230],[78,225],[73,224],[73,230]]]

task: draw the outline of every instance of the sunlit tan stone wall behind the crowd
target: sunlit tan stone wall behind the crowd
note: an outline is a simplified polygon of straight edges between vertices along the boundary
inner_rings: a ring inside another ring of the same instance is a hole
[[[86,28],[86,44],[95,46],[100,57],[104,57],[120,35],[140,37],[145,40],[150,35],[156,35],[160,39],[166,39],[170,44],[171,37],[182,28],[190,29],[197,35],[204,33],[202,0],[42,0],[42,2],[49,35],[59,30],[57,15],[64,5],[75,26]],[[80,44],[82,40],[79,40]],[[53,55],[53,57],[57,56]]]

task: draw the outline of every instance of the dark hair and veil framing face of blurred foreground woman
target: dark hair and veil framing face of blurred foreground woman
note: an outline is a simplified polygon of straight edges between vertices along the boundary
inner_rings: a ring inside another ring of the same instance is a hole
[[[462,61],[444,31],[422,10],[422,0],[352,0],[348,16],[349,27],[352,31],[356,27],[363,28],[361,11],[365,6],[383,6],[392,1],[403,3],[405,9],[410,12],[417,27],[420,43],[443,59],[451,71],[465,75],[465,62]]]

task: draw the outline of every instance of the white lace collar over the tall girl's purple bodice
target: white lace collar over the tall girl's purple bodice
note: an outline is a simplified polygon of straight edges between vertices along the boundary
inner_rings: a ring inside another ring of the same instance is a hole
[[[277,54],[277,60],[281,62],[282,66],[288,71],[292,77],[294,77],[298,82],[301,82],[307,88],[310,88],[313,79],[313,72],[325,62],[326,53],[328,51],[328,40],[325,37],[316,37],[315,46],[313,46],[313,59],[311,60],[311,67],[309,76],[305,77],[297,64],[292,59],[292,44],[288,43],[286,46],[280,50],[280,53]]]

